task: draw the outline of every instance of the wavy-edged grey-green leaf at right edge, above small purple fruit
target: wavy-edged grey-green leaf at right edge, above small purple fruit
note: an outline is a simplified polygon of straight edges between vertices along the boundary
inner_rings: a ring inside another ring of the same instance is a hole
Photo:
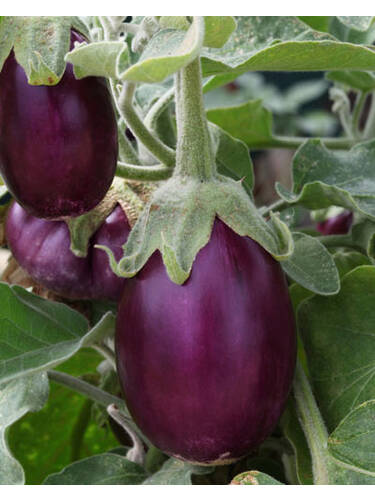
[[[306,141],[293,159],[293,193],[276,185],[289,203],[316,210],[338,205],[375,218],[375,141],[350,151],[329,151],[318,139]]]

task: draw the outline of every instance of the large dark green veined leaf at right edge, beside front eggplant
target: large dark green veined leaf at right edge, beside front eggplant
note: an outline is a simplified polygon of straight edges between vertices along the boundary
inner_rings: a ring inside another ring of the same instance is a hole
[[[314,296],[298,309],[298,327],[318,405],[329,430],[375,398],[375,267],[360,266],[332,297]]]

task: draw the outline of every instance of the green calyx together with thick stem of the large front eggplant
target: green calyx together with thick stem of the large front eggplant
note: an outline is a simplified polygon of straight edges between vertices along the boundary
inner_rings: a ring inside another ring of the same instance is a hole
[[[172,281],[189,277],[194,259],[211,236],[215,217],[249,236],[275,259],[293,252],[288,227],[271,214],[258,213],[241,182],[219,175],[204,112],[199,58],[176,76],[177,150],[172,177],[153,193],[132,229],[124,255],[111,267],[119,276],[134,276],[159,250]]]

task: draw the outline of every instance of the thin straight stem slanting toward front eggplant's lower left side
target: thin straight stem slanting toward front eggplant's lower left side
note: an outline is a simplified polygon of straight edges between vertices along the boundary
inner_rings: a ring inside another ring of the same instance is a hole
[[[112,394],[109,394],[94,385],[88,384],[84,380],[56,370],[48,370],[47,374],[50,380],[53,380],[60,385],[64,385],[65,387],[69,387],[69,389],[88,397],[105,408],[107,408],[110,404],[115,404],[117,407],[121,408],[121,410],[124,410],[125,408],[122,399],[113,396]]]

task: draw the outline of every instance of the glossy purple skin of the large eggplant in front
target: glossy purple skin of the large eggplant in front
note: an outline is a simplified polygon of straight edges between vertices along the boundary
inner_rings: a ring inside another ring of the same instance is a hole
[[[183,285],[154,253],[124,287],[116,356],[128,408],[155,446],[202,464],[246,455],[275,427],[295,368],[280,265],[218,219]]]

